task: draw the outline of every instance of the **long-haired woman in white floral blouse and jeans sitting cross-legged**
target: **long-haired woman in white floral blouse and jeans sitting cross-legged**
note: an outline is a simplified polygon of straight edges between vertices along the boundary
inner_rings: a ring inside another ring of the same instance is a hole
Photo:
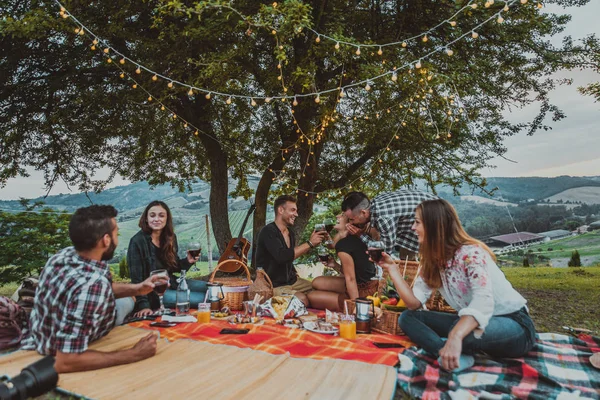
[[[498,268],[492,251],[465,232],[454,207],[445,200],[424,201],[412,230],[421,263],[413,288],[389,255],[379,263],[408,307],[399,323],[410,339],[453,371],[470,368],[476,352],[520,357],[530,351],[535,327],[527,301]],[[433,290],[458,314],[424,309]]]

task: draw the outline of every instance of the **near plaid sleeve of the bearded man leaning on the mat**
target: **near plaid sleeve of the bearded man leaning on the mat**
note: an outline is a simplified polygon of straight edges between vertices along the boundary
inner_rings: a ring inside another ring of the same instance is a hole
[[[70,296],[56,333],[56,350],[83,353],[91,341],[106,335],[110,328],[101,321],[110,313],[108,301],[112,288],[96,281],[80,287]]]

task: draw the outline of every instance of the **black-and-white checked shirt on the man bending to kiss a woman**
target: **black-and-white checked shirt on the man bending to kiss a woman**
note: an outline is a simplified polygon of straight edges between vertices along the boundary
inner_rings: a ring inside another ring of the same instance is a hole
[[[410,229],[415,220],[415,208],[425,200],[437,199],[429,193],[416,190],[398,190],[383,193],[371,202],[371,224],[379,231],[385,245],[386,253],[390,254],[396,247],[403,247],[413,252],[419,251],[419,239]],[[372,240],[362,235],[363,242]]]

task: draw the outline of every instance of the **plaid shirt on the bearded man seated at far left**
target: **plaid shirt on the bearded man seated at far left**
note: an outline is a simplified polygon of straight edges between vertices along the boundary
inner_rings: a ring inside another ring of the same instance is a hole
[[[73,247],[42,270],[23,350],[44,355],[83,353],[115,324],[112,275],[105,262],[80,257]]]

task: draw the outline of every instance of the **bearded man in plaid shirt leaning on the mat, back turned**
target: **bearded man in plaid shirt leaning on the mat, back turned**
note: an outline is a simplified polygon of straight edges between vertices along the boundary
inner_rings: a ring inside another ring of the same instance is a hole
[[[154,333],[127,350],[88,348],[115,326],[118,299],[150,293],[155,284],[166,281],[164,277],[150,277],[138,284],[112,281],[106,261],[113,257],[119,242],[116,216],[112,206],[78,209],[69,223],[73,247],[50,258],[40,275],[29,332],[21,348],[55,355],[58,373],[128,364],[156,353]]]

